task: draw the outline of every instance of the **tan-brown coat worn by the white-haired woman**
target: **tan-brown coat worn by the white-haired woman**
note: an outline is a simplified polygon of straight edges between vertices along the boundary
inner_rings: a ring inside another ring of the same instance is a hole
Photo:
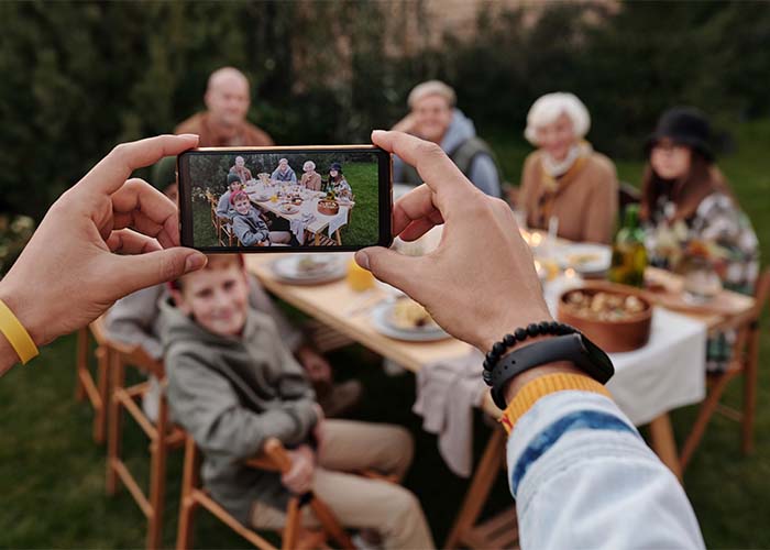
[[[524,163],[518,206],[527,210],[527,224],[548,229],[543,219],[546,200],[544,173],[540,151]],[[592,153],[579,170],[559,178],[552,199],[551,216],[559,218],[559,237],[571,241],[610,243],[618,208],[618,183],[615,165],[606,156]]]

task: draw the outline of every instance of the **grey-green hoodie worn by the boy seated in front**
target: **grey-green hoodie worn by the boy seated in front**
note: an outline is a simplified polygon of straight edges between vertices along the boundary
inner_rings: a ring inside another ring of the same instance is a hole
[[[172,418],[202,451],[206,487],[243,522],[257,499],[285,507],[280,475],[243,465],[270,437],[306,442],[318,420],[312,388],[275,322],[250,308],[235,338],[205,330],[168,300],[161,314]]]

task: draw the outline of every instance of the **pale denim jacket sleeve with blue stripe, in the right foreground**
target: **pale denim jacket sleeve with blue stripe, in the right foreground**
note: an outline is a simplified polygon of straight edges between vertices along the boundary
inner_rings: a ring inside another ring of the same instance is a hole
[[[607,397],[540,398],[507,459],[522,549],[704,548],[682,485]]]

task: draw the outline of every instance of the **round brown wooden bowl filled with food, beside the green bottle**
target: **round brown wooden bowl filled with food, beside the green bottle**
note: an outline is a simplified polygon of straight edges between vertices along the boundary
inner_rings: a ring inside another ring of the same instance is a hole
[[[587,286],[559,298],[557,317],[608,353],[632,351],[650,339],[652,305],[619,286]]]

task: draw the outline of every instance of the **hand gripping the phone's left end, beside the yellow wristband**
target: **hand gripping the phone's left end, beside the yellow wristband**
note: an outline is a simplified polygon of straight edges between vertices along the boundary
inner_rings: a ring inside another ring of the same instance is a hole
[[[0,299],[37,345],[86,326],[128,294],[206,265],[204,254],[178,246],[176,205],[142,179],[127,180],[197,144],[190,134],[120,144],[54,202],[0,282]]]

